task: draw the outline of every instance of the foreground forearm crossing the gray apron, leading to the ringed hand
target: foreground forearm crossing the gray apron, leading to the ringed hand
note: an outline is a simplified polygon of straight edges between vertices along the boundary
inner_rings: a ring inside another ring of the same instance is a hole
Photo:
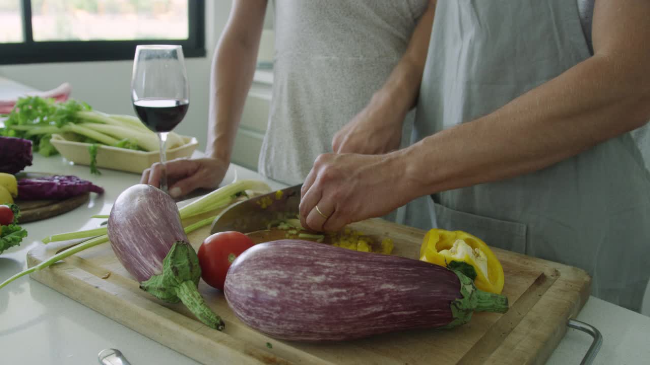
[[[404,151],[417,195],[541,170],[650,118],[650,79],[592,57],[482,118]],[[419,177],[416,182],[415,177]]]

